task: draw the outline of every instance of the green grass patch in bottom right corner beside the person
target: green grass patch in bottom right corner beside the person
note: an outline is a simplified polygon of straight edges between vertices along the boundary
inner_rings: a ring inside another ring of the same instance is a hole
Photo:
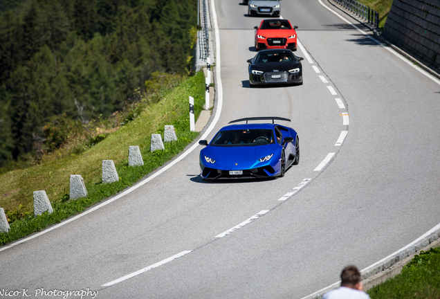
[[[372,299],[440,299],[440,248],[422,251],[401,274],[367,293]]]

